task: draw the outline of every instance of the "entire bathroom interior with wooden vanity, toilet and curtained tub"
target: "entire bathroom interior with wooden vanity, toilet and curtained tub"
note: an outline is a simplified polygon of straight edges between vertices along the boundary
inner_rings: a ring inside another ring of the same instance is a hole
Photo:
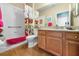
[[[78,3],[0,3],[0,56],[79,55],[78,10]]]

